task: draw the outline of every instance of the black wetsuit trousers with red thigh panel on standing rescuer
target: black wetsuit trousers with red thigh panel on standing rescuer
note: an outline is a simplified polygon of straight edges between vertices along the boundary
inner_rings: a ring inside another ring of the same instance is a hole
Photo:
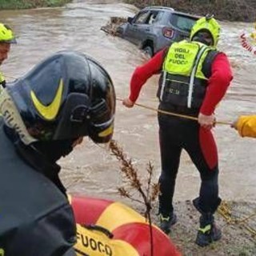
[[[160,103],[160,110],[198,116],[198,110],[182,111],[174,106]],[[173,213],[173,196],[175,180],[178,174],[182,149],[190,155],[192,162],[200,172],[202,179],[199,200],[203,213],[214,213],[220,199],[218,198],[218,154],[213,134],[193,120],[158,114],[159,141],[162,161],[162,173],[159,178],[161,194],[159,212],[163,215]],[[209,162],[207,158],[213,158]],[[186,189],[186,188],[184,188]]]

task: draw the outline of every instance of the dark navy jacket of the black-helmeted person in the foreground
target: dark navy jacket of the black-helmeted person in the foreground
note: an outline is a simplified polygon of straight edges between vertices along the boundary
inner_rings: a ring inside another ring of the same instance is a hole
[[[75,222],[66,195],[20,158],[20,148],[7,137],[2,118],[0,145],[0,252],[74,256]],[[34,160],[44,165],[40,158]]]

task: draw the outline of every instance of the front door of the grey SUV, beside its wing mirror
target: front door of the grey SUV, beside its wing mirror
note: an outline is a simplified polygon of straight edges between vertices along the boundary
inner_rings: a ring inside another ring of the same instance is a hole
[[[141,38],[141,31],[143,30],[144,26],[146,26],[146,21],[149,17],[150,11],[145,10],[139,12],[132,22],[128,24],[126,28],[126,39],[134,44],[138,45]]]

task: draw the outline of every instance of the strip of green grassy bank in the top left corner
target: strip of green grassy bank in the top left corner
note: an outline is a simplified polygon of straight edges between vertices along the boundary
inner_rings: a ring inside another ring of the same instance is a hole
[[[63,6],[72,0],[1,0],[0,10]]]

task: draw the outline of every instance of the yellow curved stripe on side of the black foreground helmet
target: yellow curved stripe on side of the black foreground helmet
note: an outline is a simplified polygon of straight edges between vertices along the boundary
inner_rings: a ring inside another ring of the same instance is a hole
[[[53,120],[54,118],[56,118],[58,110],[62,103],[62,91],[63,80],[61,79],[53,102],[51,102],[49,106],[44,106],[38,100],[37,96],[34,94],[34,91],[31,90],[30,96],[32,98],[32,102],[34,103],[34,107],[36,108],[36,110],[38,110],[38,113],[41,114],[43,118],[46,118],[47,120]]]

